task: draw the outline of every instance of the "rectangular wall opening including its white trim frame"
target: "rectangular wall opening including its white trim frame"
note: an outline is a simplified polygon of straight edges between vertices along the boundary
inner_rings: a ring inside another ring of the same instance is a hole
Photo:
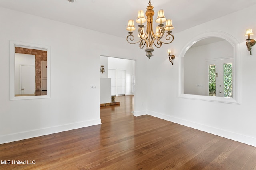
[[[50,47],[10,41],[10,100],[50,98]]]

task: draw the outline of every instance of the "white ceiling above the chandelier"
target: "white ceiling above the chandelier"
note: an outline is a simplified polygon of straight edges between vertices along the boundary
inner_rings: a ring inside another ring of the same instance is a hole
[[[128,20],[146,11],[148,0],[0,0],[0,6],[95,31],[126,37]],[[256,0],[151,0],[154,20],[164,9],[173,33],[256,4]],[[136,24],[136,22],[134,23]],[[137,24],[138,25],[138,24]],[[156,26],[156,24],[154,25]]]

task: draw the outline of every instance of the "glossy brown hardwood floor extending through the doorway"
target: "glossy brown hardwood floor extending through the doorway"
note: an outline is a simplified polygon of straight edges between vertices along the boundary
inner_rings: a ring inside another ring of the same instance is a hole
[[[256,147],[149,115],[134,117],[133,96],[117,100],[120,105],[100,107],[101,125],[0,145],[0,169],[256,170]]]

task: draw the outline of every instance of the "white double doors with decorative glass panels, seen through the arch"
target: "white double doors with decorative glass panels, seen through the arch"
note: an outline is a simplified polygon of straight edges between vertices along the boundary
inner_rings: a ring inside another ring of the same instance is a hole
[[[233,59],[206,62],[206,94],[218,97],[233,97]]]

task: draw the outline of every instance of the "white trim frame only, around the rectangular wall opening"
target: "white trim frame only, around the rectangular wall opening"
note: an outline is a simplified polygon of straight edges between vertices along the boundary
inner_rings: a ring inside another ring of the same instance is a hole
[[[30,49],[40,49],[47,51],[47,95],[41,96],[15,96],[15,47],[26,47]],[[50,78],[51,78],[51,47],[10,40],[10,100],[42,99],[50,98]]]

